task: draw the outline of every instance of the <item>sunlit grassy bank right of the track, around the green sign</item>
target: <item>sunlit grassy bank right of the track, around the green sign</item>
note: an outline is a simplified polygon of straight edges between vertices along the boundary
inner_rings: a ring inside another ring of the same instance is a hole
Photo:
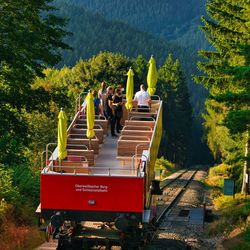
[[[226,236],[223,242],[224,249],[246,250],[250,249],[250,226],[247,217],[250,215],[250,197],[236,194],[232,196],[223,195],[224,179],[230,177],[230,167],[220,164],[209,170],[205,181],[211,190],[215,213],[218,219],[208,227],[210,236]]]

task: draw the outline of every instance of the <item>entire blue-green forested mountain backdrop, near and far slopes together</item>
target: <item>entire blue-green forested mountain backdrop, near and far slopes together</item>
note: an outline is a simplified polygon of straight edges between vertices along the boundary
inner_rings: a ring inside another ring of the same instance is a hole
[[[136,4],[137,2],[139,3]],[[202,86],[195,85],[191,79],[191,75],[197,72],[196,48],[206,47],[203,34],[197,29],[199,16],[204,12],[204,2],[205,0],[199,3],[195,0],[189,1],[188,4],[183,0],[55,1],[58,13],[68,18],[67,29],[73,35],[66,41],[74,48],[73,52],[63,54],[63,61],[59,66],[73,66],[79,58],[86,59],[100,51],[119,52],[129,57],[140,54],[146,58],[146,62],[140,62],[140,58],[137,58],[140,65],[138,77],[135,74],[135,87],[138,87],[145,81],[147,68],[143,72],[140,70],[144,68],[151,54],[158,64],[163,64],[169,53],[179,58],[195,118],[190,134],[193,147],[191,151],[195,152],[191,157],[193,163],[211,161],[206,145],[200,140],[201,112],[204,110],[207,91]],[[135,26],[139,29],[133,28]],[[173,42],[169,42],[170,40]],[[133,64],[133,69],[137,70],[134,66],[136,65]]]

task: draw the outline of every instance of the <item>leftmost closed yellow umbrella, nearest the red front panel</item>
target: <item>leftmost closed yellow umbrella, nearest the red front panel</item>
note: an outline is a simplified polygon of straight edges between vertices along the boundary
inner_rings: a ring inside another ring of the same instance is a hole
[[[58,115],[58,158],[63,160],[67,156],[67,116],[63,109]]]

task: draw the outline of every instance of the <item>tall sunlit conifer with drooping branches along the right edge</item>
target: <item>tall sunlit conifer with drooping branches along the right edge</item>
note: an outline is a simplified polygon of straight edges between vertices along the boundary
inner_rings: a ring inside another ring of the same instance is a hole
[[[196,77],[210,94],[205,116],[210,148],[217,145],[217,157],[238,166],[243,163],[250,122],[249,11],[249,0],[212,0],[207,4],[210,19],[202,18],[202,29],[214,51],[200,52],[205,61],[198,66],[205,75]],[[212,113],[216,120],[213,126],[209,123]],[[233,140],[238,145],[234,151],[226,149],[219,140],[219,127],[224,127],[224,141]],[[237,154],[234,154],[236,149]]]

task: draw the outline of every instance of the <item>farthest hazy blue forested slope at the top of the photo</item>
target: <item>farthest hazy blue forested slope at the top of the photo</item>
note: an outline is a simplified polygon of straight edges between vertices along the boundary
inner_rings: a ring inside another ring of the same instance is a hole
[[[203,34],[197,29],[200,24],[199,16],[205,11],[204,0],[198,2],[190,0],[188,4],[185,0],[68,0],[67,2],[184,46],[200,49],[205,43]]]

